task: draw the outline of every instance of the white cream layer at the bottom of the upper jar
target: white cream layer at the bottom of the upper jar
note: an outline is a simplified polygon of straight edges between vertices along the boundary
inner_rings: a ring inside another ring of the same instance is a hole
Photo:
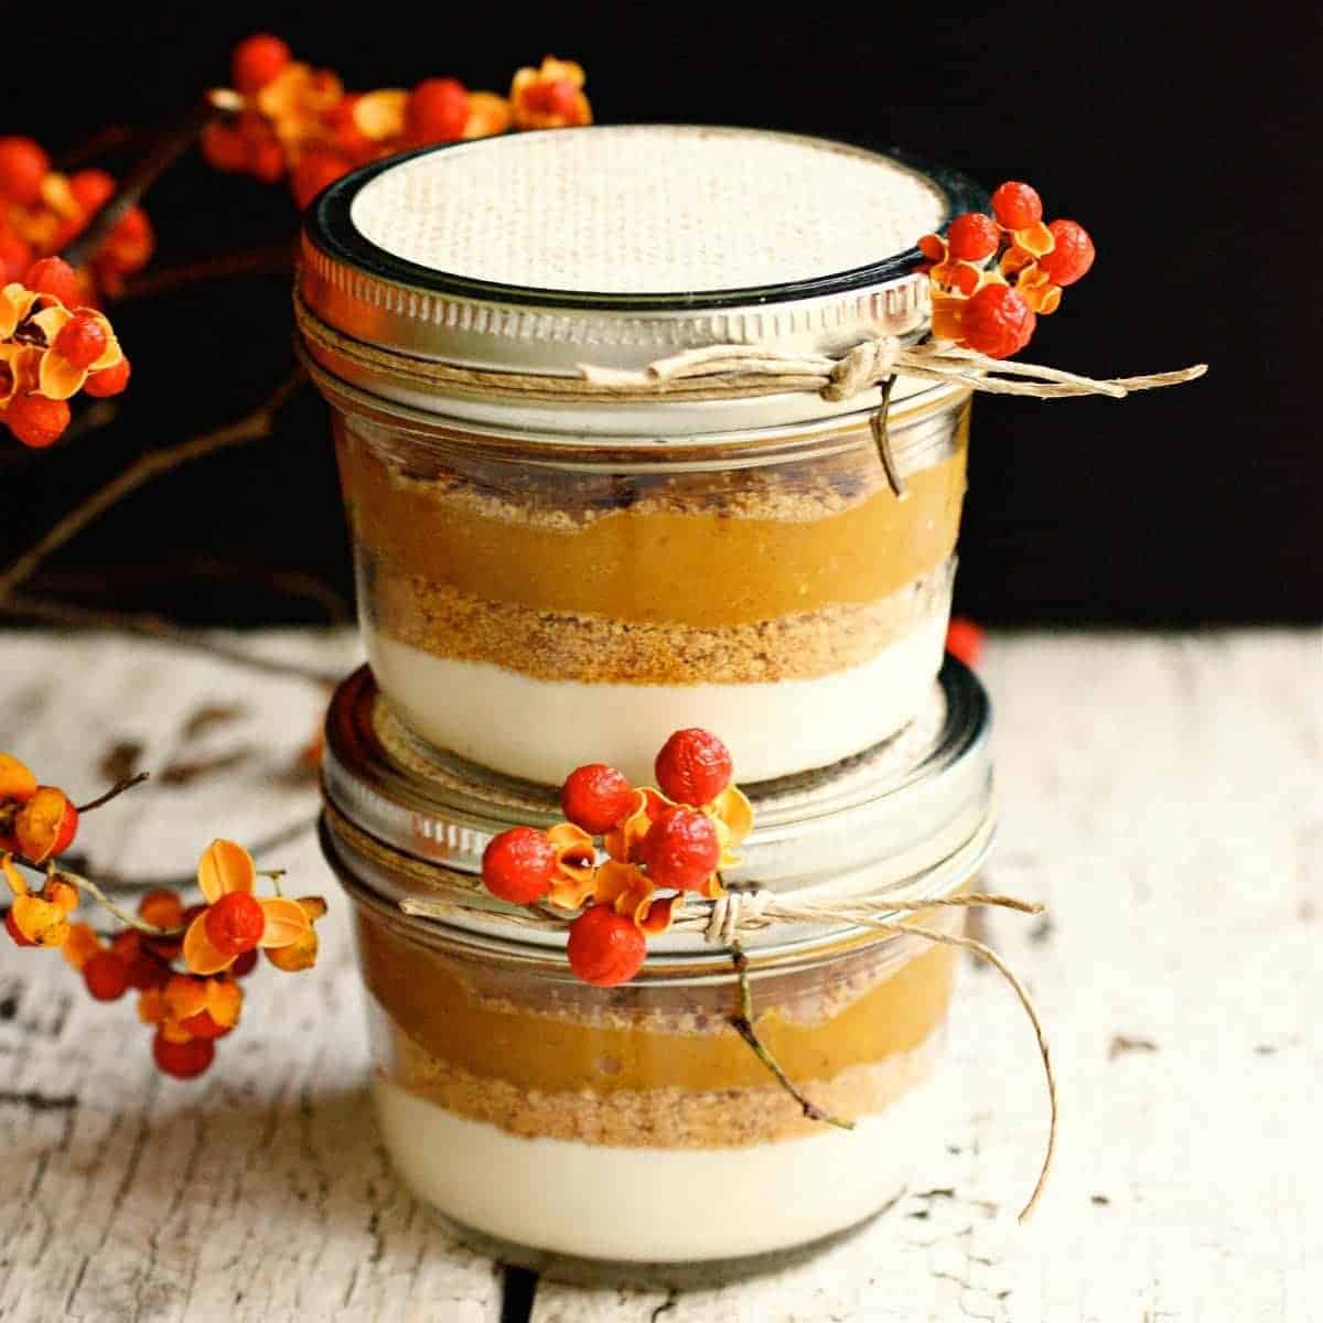
[[[573,767],[609,762],[646,785],[667,737],[704,726],[726,742],[736,777],[749,783],[826,767],[909,722],[942,664],[946,613],[861,665],[753,684],[537,680],[365,632],[377,684],[406,724],[483,767],[558,785]]]

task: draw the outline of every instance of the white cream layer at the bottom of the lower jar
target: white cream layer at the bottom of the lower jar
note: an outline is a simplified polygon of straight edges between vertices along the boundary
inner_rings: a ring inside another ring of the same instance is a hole
[[[855,1130],[745,1148],[525,1139],[380,1076],[377,1115],[409,1188],[455,1221],[556,1254],[700,1262],[806,1245],[901,1193],[942,1126],[917,1088]]]

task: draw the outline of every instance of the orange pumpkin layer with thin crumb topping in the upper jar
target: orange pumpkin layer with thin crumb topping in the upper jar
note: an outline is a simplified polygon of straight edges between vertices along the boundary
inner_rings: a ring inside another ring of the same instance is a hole
[[[647,482],[476,460],[423,478],[337,427],[355,538],[388,573],[507,607],[700,630],[877,602],[945,564],[960,431],[898,499],[867,447]]]

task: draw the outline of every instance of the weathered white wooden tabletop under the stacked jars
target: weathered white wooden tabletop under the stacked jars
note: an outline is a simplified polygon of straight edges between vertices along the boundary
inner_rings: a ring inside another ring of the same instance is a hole
[[[348,632],[241,642],[331,669],[357,652]],[[983,676],[992,881],[1050,905],[988,921],[1060,1077],[1035,1220],[1012,1213],[1043,1139],[1039,1064],[1008,990],[971,968],[922,1188],[779,1277],[669,1297],[540,1283],[533,1323],[1323,1318],[1323,635],[999,636]],[[75,795],[115,745],[173,769],[87,820],[94,876],[187,873],[216,833],[311,823],[290,765],[323,701],[159,644],[0,635],[0,749]],[[503,1318],[499,1267],[381,1151],[347,906],[314,837],[265,859],[329,894],[324,955],[254,975],[200,1081],[153,1070],[131,999],[93,1003],[58,955],[0,947],[7,1323]]]

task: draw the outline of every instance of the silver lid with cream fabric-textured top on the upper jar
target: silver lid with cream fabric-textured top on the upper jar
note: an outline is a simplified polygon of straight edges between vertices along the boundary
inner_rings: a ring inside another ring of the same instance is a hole
[[[299,295],[315,319],[374,349],[486,372],[638,370],[713,344],[837,355],[926,331],[914,243],[974,198],[949,172],[794,134],[655,124],[512,134],[378,161],[332,184],[306,222]],[[463,389],[429,401],[324,345],[310,352],[370,393],[493,421],[490,400]],[[910,380],[893,396],[943,389]],[[740,421],[836,415],[876,394],[747,401]],[[651,418],[656,407],[613,410]],[[703,430],[703,409],[667,407]],[[706,411],[732,421],[729,407]]]

